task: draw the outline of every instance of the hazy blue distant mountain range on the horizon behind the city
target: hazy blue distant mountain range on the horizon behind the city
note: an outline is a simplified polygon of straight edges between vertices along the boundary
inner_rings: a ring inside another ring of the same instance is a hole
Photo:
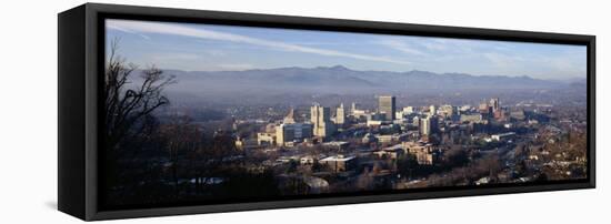
[[[530,77],[471,75],[427,71],[355,71],[342,65],[256,69],[246,71],[164,70],[177,77],[176,91],[308,91],[321,93],[439,90],[534,90],[565,88],[575,81]],[[577,81],[581,82],[581,81]]]

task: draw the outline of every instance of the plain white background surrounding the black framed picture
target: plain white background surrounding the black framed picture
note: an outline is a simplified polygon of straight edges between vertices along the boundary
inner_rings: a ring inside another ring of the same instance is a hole
[[[611,7],[605,1],[101,1],[154,7],[595,34],[595,190],[113,221],[120,223],[599,223],[611,221]],[[2,1],[0,223],[74,223],[57,206],[57,13],[83,1]]]

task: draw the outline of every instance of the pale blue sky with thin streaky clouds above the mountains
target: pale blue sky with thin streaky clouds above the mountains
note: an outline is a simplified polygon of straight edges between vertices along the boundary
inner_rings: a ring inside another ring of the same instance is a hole
[[[184,71],[343,65],[544,80],[587,72],[584,45],[117,19],[106,28],[107,52],[117,39],[118,53],[131,63]]]

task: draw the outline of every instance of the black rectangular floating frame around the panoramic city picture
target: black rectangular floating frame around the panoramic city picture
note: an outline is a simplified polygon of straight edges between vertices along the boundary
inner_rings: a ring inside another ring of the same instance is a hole
[[[103,108],[103,102],[100,100],[104,71],[103,20],[108,18],[585,45],[588,49],[588,179],[544,184],[422,189],[409,193],[385,192],[214,205],[103,210],[98,203],[98,176],[103,172],[98,166],[99,153],[101,153],[99,149],[103,144],[100,131],[102,115],[99,109]],[[58,208],[86,221],[595,187],[594,35],[99,3],[86,3],[61,12],[58,16]]]

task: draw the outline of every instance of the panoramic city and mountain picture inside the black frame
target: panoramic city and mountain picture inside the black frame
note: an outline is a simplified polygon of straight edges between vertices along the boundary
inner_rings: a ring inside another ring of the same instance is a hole
[[[107,208],[588,179],[585,45],[104,23]]]

